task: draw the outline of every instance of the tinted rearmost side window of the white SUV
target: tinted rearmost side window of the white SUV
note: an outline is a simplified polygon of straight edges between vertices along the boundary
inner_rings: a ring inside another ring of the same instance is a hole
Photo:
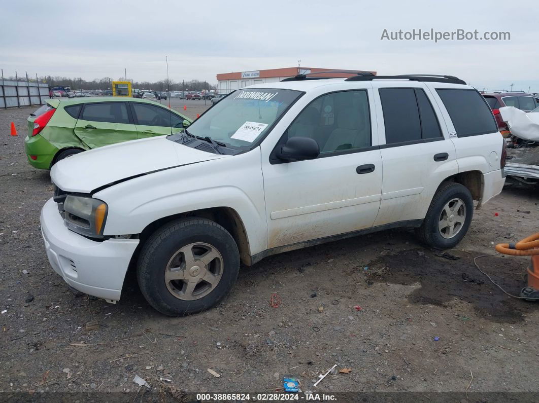
[[[436,89],[447,109],[457,137],[479,136],[498,131],[492,111],[474,89]]]

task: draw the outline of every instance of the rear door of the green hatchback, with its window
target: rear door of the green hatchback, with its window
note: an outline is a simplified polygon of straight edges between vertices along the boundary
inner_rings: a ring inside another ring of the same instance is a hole
[[[86,103],[75,125],[77,136],[89,148],[135,140],[137,132],[126,102]]]

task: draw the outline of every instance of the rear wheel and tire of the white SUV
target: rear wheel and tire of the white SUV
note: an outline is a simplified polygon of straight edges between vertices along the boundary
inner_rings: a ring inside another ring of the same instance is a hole
[[[443,182],[432,199],[419,239],[434,249],[449,249],[466,235],[473,217],[472,194],[455,182]]]

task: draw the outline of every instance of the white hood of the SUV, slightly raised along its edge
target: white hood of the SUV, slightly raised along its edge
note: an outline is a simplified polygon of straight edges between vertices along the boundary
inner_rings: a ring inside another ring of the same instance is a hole
[[[229,157],[191,149],[166,137],[151,137],[81,152],[58,161],[51,169],[54,185],[65,192],[93,193],[136,176]]]

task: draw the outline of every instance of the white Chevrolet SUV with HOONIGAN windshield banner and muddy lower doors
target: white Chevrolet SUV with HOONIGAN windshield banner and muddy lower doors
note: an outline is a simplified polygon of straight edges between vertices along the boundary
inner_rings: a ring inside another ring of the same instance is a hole
[[[505,181],[483,97],[452,76],[296,76],[237,90],[184,133],[54,165],[41,224],[72,287],[120,299],[128,267],[167,315],[201,312],[240,262],[395,227],[455,246]]]

